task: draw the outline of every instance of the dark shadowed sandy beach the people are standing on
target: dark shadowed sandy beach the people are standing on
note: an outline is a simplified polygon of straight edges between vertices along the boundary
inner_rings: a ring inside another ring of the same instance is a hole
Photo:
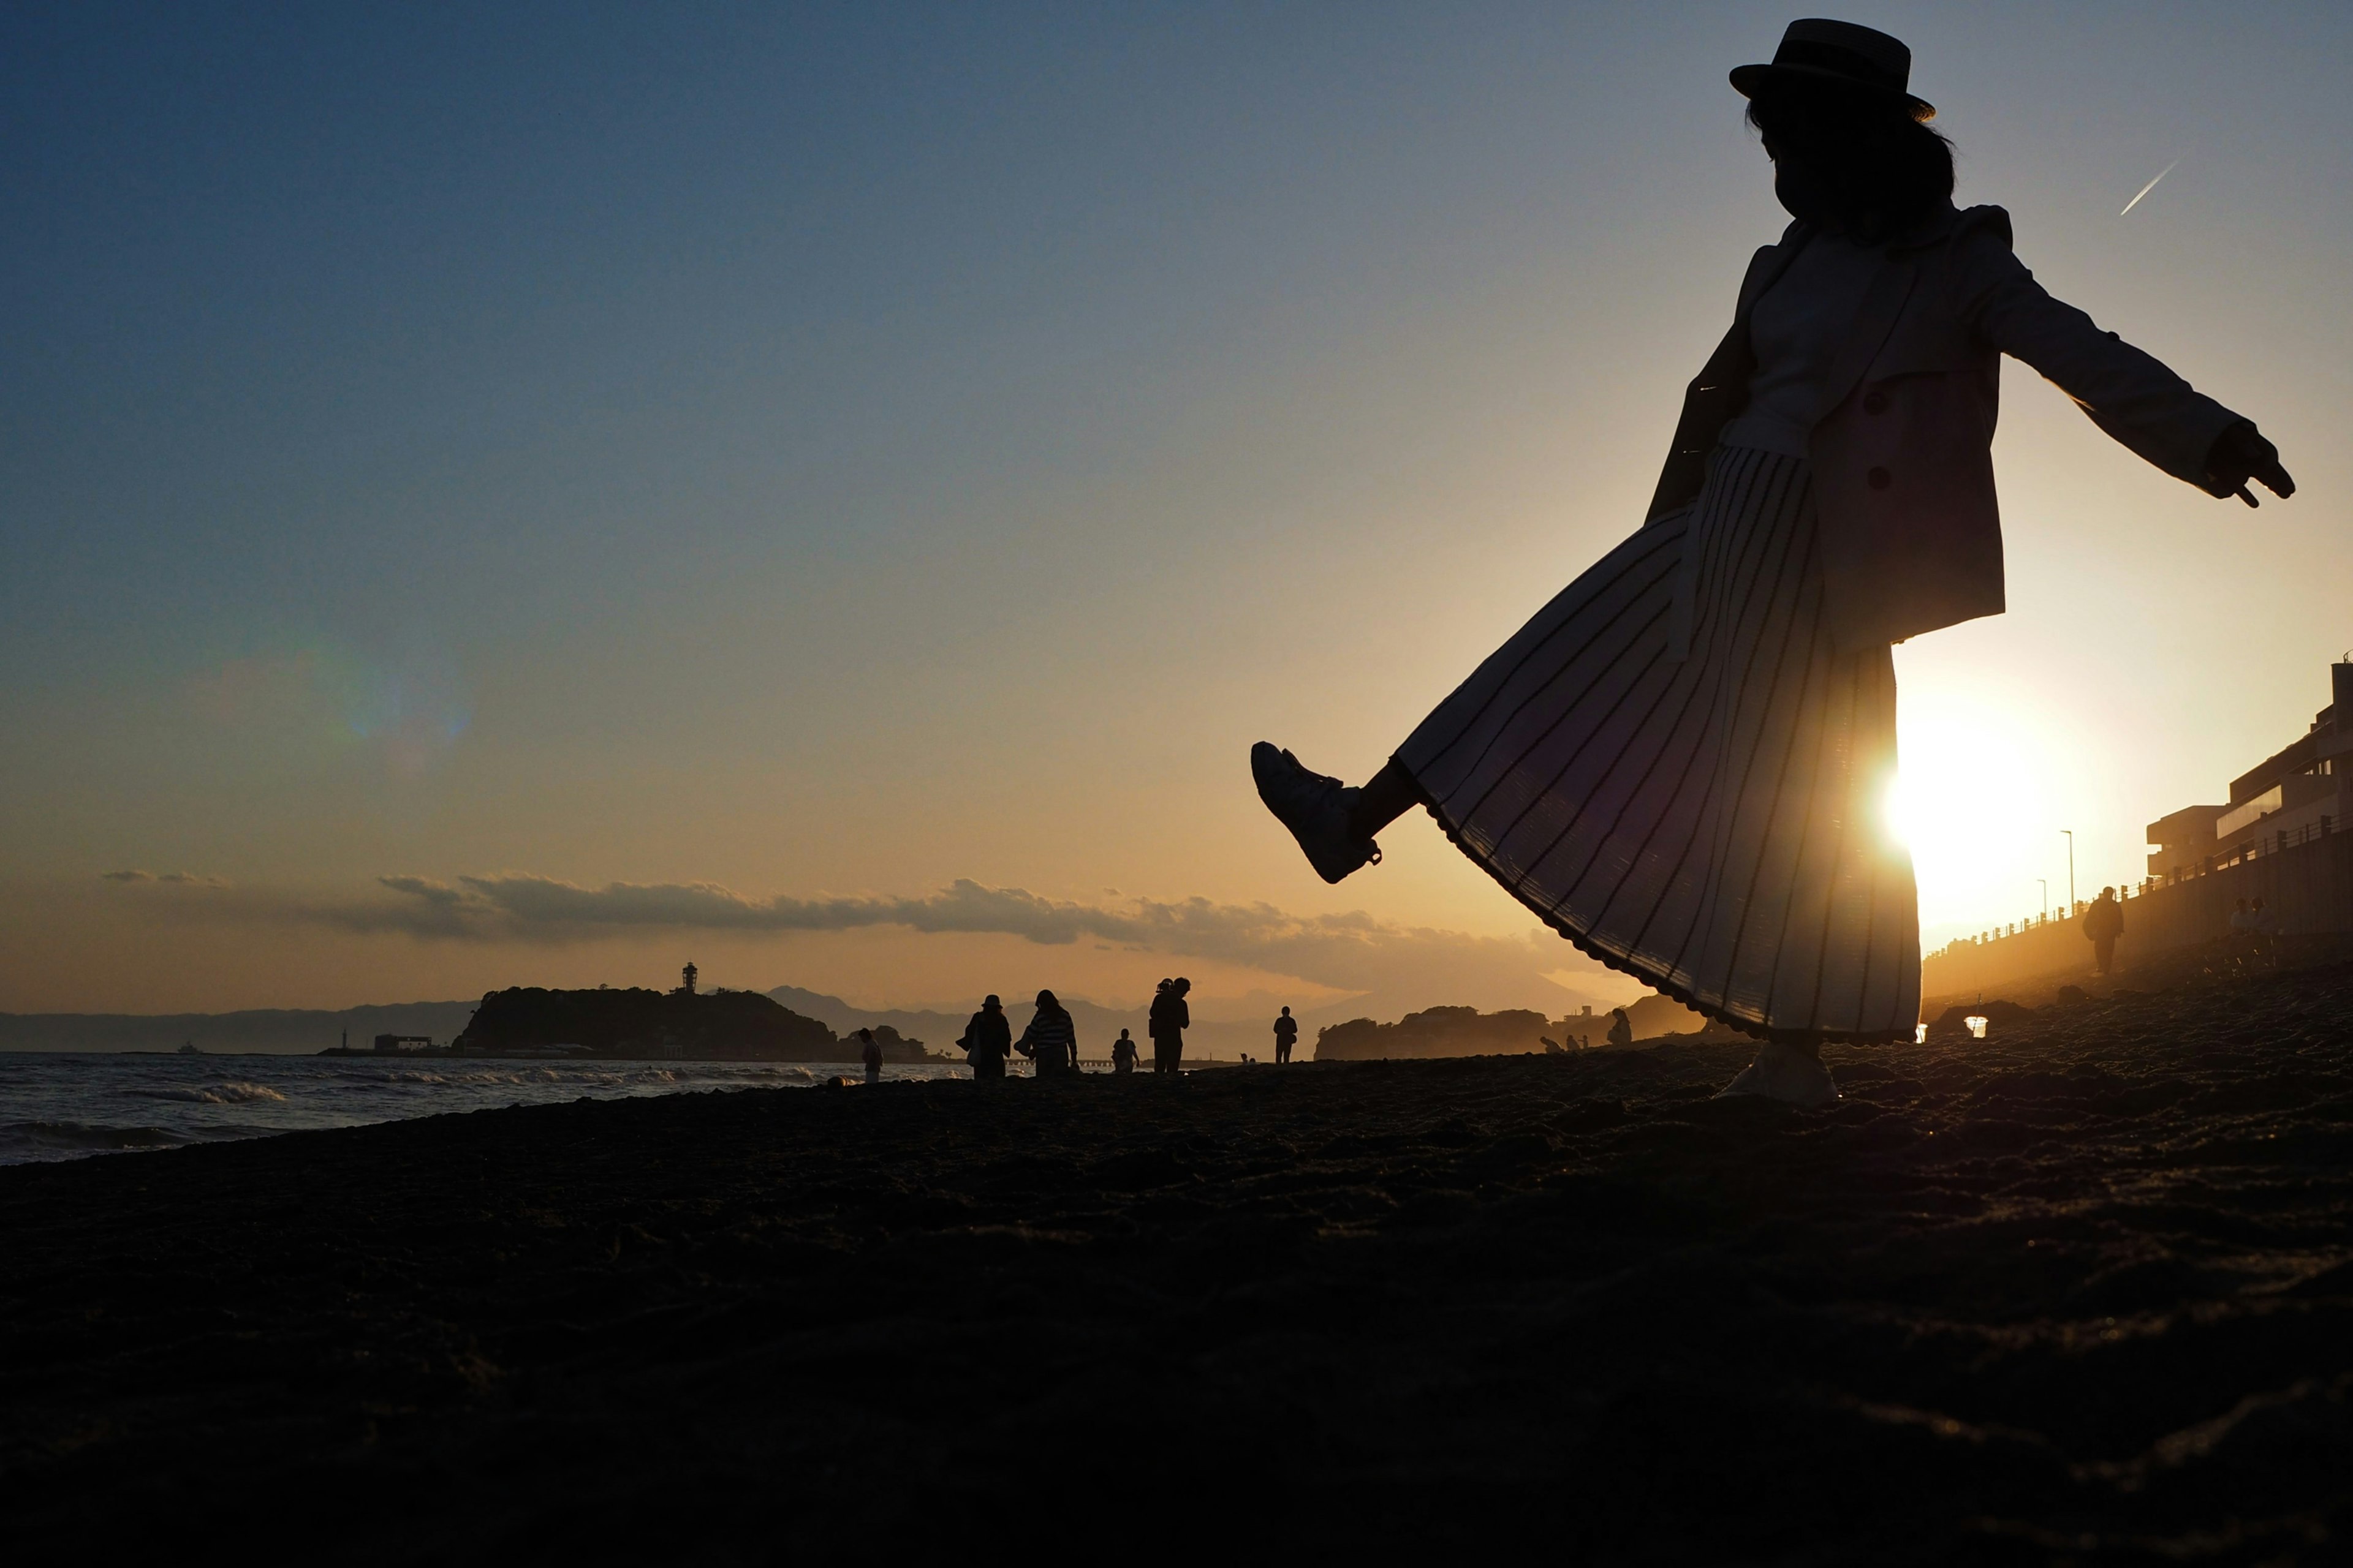
[[[0,1540],[2353,1556],[2353,971],[1833,1051],[899,1084],[0,1171]],[[35,1552],[24,1552],[33,1547]]]

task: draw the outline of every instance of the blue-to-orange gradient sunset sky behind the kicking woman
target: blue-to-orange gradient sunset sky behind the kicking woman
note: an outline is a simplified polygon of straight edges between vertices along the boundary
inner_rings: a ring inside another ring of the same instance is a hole
[[[1788,14],[7,7],[0,1009],[1631,994],[1245,752],[1372,771],[1640,524]],[[2327,703],[2353,9],[1835,14],[2304,484],[2007,367],[2012,614],[1897,654],[1934,943]]]

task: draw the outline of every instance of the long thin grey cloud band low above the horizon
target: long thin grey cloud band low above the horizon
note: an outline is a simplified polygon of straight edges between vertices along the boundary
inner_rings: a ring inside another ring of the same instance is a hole
[[[1014,936],[1042,947],[1111,945],[1217,959],[1348,992],[1386,992],[1407,971],[1454,994],[1558,997],[1565,943],[1400,926],[1365,912],[1292,914],[1268,903],[1120,898],[1080,903],[958,879],[922,896],[755,898],[713,882],[581,886],[529,872],[379,877],[372,898],[315,900],[224,893],[207,917],[249,917],[452,943],[576,943],[649,931],[800,933],[894,926],[925,933]],[[1555,978],[1546,978],[1555,976]]]

